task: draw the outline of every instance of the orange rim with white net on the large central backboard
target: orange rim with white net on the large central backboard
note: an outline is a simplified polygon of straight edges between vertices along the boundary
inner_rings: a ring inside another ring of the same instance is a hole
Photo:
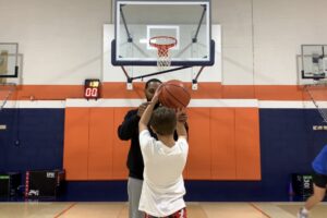
[[[171,36],[155,36],[149,39],[149,45],[158,49],[157,66],[165,70],[170,66],[169,49],[177,45],[177,39]]]

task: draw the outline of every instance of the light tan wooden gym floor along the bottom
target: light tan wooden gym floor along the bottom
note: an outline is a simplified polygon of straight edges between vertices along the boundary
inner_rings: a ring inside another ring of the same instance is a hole
[[[302,203],[187,203],[189,218],[295,218]],[[0,218],[128,218],[126,203],[0,203]],[[327,203],[311,211],[327,217]]]

